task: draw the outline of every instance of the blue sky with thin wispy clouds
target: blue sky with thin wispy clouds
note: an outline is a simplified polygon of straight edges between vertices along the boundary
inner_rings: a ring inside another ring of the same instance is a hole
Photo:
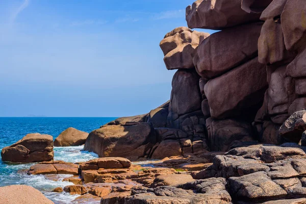
[[[0,117],[121,117],[162,105],[175,70],[159,43],[187,26],[192,3],[0,0]]]

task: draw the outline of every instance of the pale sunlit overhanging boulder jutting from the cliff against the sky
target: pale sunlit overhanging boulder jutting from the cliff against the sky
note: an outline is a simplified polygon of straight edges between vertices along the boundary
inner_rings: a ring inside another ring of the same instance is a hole
[[[167,69],[194,68],[194,49],[209,35],[186,27],[179,27],[167,33],[160,43]]]

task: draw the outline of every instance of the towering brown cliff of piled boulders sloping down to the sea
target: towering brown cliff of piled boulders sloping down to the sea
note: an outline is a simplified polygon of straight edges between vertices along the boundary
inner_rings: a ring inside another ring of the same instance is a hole
[[[85,149],[163,158],[299,143],[303,131],[279,127],[306,108],[305,10],[302,0],[197,0],[186,9],[189,28],[160,42],[166,68],[176,70],[170,100],[101,126]]]

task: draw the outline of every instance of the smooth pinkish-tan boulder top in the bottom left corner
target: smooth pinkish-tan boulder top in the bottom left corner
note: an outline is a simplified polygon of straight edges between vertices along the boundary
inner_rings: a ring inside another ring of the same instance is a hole
[[[31,186],[12,185],[0,187],[0,202],[3,204],[54,204],[40,191]]]

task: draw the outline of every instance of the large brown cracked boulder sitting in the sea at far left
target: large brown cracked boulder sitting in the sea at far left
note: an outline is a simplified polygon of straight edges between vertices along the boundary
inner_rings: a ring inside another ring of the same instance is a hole
[[[53,156],[53,137],[39,133],[28,134],[1,152],[2,160],[9,162],[50,161]]]

